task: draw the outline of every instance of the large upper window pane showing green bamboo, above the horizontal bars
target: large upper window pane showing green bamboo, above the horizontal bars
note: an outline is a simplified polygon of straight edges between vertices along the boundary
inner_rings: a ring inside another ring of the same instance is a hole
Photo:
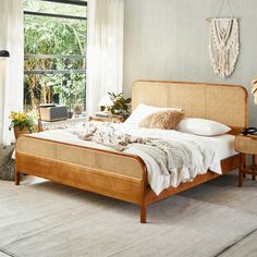
[[[84,54],[86,21],[24,15],[25,54]]]

